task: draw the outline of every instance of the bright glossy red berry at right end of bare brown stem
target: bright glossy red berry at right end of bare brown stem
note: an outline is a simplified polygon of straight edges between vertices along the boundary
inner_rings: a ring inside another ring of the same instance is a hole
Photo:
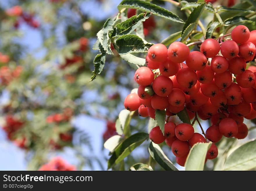
[[[220,44],[218,43],[217,40],[214,40],[212,38],[206,39],[201,47],[200,51],[207,57],[207,58],[212,58],[216,56],[221,49]]]

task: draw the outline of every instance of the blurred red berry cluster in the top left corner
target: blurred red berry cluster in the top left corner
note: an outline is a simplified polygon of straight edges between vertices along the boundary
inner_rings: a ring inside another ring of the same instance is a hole
[[[6,15],[10,16],[10,17],[18,17],[14,27],[15,28],[19,28],[19,25],[22,22],[26,22],[29,26],[33,27],[33,28],[38,28],[40,26],[40,23],[34,19],[34,16],[32,14],[29,13],[25,13],[22,10],[21,6],[13,6],[10,9],[7,9],[6,11]]]

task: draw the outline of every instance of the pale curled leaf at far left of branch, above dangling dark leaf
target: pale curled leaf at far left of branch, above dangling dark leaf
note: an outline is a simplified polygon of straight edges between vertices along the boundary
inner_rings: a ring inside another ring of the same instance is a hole
[[[110,36],[113,33],[113,23],[114,21],[111,18],[107,19],[103,28],[97,33],[98,40],[107,54],[113,54],[110,47]]]

